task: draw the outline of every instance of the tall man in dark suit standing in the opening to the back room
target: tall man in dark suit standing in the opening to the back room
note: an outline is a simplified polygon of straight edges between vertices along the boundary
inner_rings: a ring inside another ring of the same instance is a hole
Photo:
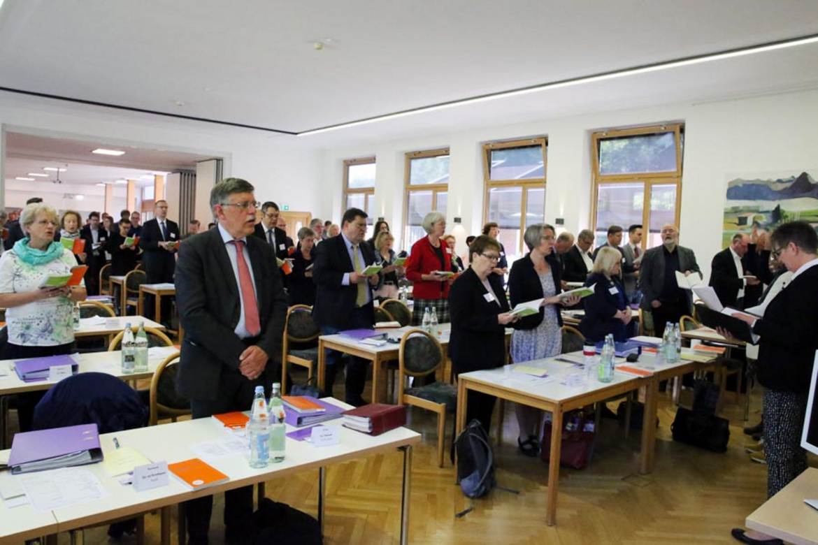
[[[176,270],[176,252],[179,249],[179,226],[168,219],[168,201],[158,200],[154,206],[154,219],[142,225],[139,235],[139,248],[142,248],[142,266],[147,275],[147,284],[173,282]],[[146,309],[154,307],[153,296],[146,296]],[[167,305],[165,304],[167,302]],[[168,316],[170,301],[162,301],[161,313]],[[161,316],[154,316],[159,322]]]

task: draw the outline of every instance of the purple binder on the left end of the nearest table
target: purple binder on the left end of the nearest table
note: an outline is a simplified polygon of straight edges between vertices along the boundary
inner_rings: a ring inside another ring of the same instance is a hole
[[[91,459],[83,463],[99,462],[102,459],[97,424],[25,431],[15,434],[14,441],[11,443],[8,465],[11,467],[12,473],[20,473],[25,472],[25,464],[27,463],[42,462],[51,458],[65,456],[65,454],[85,451],[91,453]],[[58,465],[57,467],[65,467],[65,465]],[[51,468],[43,467],[42,469]]]

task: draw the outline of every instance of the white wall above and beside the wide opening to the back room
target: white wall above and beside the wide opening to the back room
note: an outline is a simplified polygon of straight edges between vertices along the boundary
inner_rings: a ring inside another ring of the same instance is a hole
[[[316,197],[321,155],[308,150],[293,136],[130,114],[2,92],[0,127],[3,131],[222,157],[224,175],[242,177],[255,185],[258,200],[272,199],[289,204],[290,210],[311,211],[319,217],[330,212],[329,208],[321,208]],[[0,181],[5,181],[3,157],[0,154]],[[0,191],[0,199],[3,193],[5,191]],[[101,209],[101,205],[97,209]]]

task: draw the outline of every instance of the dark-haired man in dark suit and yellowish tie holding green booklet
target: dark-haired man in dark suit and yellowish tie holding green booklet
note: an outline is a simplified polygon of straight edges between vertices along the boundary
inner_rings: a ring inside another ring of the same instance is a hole
[[[322,226],[323,227],[323,226]],[[312,279],[316,283],[315,306],[312,317],[321,327],[322,335],[331,335],[344,329],[372,328],[375,312],[372,306],[372,288],[378,284],[378,275],[363,275],[367,266],[375,263],[375,253],[366,236],[366,212],[350,208],[344,212],[341,235],[326,239],[313,250]],[[327,395],[340,364],[340,352],[326,351]],[[353,357],[347,366],[346,401],[362,405],[363,386],[368,362]]]

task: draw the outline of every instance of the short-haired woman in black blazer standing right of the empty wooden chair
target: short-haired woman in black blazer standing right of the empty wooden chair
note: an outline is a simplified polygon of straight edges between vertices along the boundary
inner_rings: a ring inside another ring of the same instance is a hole
[[[500,244],[482,235],[474,239],[469,252],[471,267],[455,280],[449,293],[449,357],[456,375],[505,364],[506,325],[517,321],[509,312],[501,276],[492,274],[500,259]],[[496,399],[469,391],[466,422],[477,418],[488,431]]]

